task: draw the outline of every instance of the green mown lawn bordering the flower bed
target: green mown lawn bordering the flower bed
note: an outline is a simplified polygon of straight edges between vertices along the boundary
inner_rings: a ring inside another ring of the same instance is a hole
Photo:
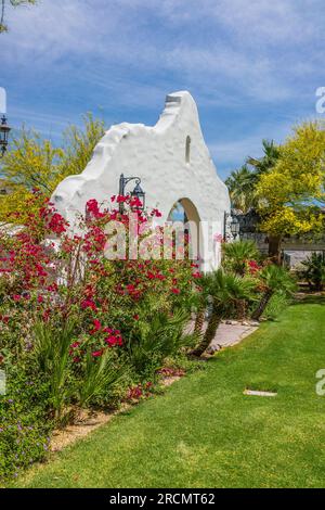
[[[325,487],[325,302],[291,306],[22,487]],[[244,396],[246,387],[275,398]]]

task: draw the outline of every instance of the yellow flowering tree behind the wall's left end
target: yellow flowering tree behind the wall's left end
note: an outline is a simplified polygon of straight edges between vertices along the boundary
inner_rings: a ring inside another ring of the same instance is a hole
[[[1,160],[1,184],[9,192],[0,196],[0,221],[10,213],[23,213],[32,190],[51,196],[56,186],[67,176],[80,174],[90,161],[94,146],[104,135],[104,124],[91,114],[83,118],[83,127],[70,126],[63,135],[63,146],[53,146],[39,133],[23,128],[11,141],[10,150]],[[37,203],[35,205],[37,207]],[[14,215],[12,216],[14,221]],[[17,219],[22,221],[22,216]]]

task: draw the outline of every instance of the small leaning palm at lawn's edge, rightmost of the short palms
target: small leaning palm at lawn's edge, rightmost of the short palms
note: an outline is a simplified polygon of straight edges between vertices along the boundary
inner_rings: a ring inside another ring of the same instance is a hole
[[[283,267],[271,264],[265,266],[260,273],[263,285],[263,294],[257,309],[251,315],[253,320],[259,320],[265,310],[271,297],[278,291],[291,295],[296,283],[290,273]]]

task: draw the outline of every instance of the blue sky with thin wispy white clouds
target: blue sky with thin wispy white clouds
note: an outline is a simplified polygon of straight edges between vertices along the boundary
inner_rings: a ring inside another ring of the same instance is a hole
[[[10,122],[55,142],[90,111],[107,126],[153,125],[165,95],[186,89],[225,178],[262,138],[317,116],[324,0],[39,0],[6,18]]]

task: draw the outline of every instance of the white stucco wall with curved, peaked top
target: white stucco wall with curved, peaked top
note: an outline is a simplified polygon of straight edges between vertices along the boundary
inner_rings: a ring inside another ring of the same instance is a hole
[[[188,163],[187,137],[191,137]],[[96,145],[84,171],[63,180],[52,202],[73,225],[76,213],[84,212],[88,200],[104,202],[118,193],[120,174],[142,179],[146,205],[159,208],[161,221],[168,218],[176,202],[186,199],[183,204],[188,219],[194,204],[200,220],[211,226],[210,240],[213,234],[223,234],[224,212],[230,211],[229,193],[217,175],[203,138],[195,101],[188,92],[169,94],[154,127],[127,123],[113,126]],[[203,241],[202,266],[209,270],[219,264],[219,247],[214,244],[217,252],[208,254],[205,232]]]

